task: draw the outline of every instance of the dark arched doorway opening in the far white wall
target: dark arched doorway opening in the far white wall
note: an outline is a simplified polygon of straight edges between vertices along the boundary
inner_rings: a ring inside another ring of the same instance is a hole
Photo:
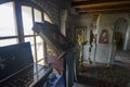
[[[119,17],[114,24],[114,39],[116,40],[117,49],[123,50],[126,33],[129,22],[125,17]]]

